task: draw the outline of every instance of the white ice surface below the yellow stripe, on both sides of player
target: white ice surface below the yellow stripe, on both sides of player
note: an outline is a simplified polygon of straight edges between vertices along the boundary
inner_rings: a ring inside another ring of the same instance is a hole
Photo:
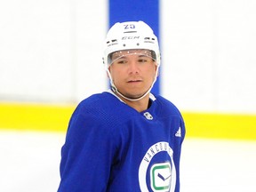
[[[0,191],[54,192],[65,133],[0,132]],[[255,192],[256,140],[186,138],[180,192]]]

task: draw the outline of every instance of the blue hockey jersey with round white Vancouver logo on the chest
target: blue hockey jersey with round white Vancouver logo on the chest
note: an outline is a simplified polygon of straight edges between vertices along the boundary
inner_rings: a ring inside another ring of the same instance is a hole
[[[143,112],[110,92],[79,103],[61,148],[58,191],[179,192],[185,125],[172,102],[150,100]]]

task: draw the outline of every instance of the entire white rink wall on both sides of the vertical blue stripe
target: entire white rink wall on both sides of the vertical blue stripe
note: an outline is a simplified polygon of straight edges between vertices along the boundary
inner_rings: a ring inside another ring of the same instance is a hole
[[[181,110],[256,114],[256,3],[161,3],[161,85]],[[108,87],[108,1],[0,2],[0,100],[77,102]]]

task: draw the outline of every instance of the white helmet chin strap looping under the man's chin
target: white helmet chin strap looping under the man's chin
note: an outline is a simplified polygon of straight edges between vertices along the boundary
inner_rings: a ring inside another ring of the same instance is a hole
[[[111,74],[110,74],[110,72],[109,72],[109,69],[107,69],[108,77],[109,77],[109,79],[110,79],[110,84],[111,84],[111,90],[112,90],[113,92],[118,93],[118,95],[120,95],[120,96],[121,96],[122,98],[124,98],[125,100],[130,100],[130,101],[141,100],[141,99],[143,99],[146,95],[148,95],[148,93],[149,93],[149,92],[151,91],[151,89],[153,88],[153,85],[156,83],[156,77],[157,77],[157,74],[158,74],[158,68],[159,68],[159,66],[157,66],[157,68],[156,68],[156,76],[155,76],[155,79],[154,79],[153,83],[151,84],[151,86],[149,87],[148,91],[145,92],[143,95],[141,95],[139,98],[135,98],[135,99],[133,99],[133,98],[128,98],[128,97],[124,96],[124,94],[122,94],[121,92],[118,91],[118,89],[116,88],[116,85],[115,85],[114,82],[113,82],[113,79],[112,79],[112,76],[111,76]]]

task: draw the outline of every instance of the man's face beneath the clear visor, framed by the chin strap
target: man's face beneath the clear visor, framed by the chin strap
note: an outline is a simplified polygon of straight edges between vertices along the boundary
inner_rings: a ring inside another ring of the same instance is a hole
[[[156,61],[148,50],[114,52],[110,75],[119,92],[132,99],[148,91],[156,76]]]

